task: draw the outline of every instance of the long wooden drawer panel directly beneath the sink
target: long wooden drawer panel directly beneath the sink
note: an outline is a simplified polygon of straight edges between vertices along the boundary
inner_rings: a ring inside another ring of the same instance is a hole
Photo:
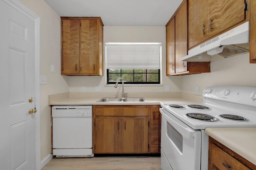
[[[96,108],[95,116],[148,116],[148,108],[102,107]]]

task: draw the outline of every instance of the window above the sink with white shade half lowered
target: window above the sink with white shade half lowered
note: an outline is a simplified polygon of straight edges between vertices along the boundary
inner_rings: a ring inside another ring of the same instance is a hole
[[[107,84],[160,84],[160,57],[161,43],[106,43]]]

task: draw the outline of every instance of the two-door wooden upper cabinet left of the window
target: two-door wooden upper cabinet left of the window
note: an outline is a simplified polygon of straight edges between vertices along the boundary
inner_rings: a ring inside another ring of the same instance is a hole
[[[103,76],[100,17],[61,17],[61,74]]]

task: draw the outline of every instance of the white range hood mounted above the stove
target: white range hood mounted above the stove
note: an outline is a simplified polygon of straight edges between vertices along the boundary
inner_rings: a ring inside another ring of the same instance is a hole
[[[189,50],[188,55],[182,57],[181,60],[204,62],[211,61],[211,56],[216,54],[222,57],[231,57],[248,53],[248,49],[241,49],[234,46],[246,43],[249,43],[249,21]],[[221,53],[223,53],[223,55],[221,55]]]

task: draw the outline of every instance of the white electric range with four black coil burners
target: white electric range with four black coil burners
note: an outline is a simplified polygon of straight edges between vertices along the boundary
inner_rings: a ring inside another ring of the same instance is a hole
[[[256,127],[256,88],[212,86],[203,104],[162,104],[162,170],[208,170],[207,127]]]

